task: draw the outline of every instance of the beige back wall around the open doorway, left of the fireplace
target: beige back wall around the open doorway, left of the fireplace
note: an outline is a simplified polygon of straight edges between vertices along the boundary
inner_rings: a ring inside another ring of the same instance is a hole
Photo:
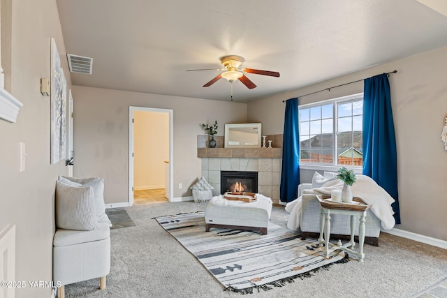
[[[128,202],[129,106],[174,111],[173,198],[191,196],[189,186],[200,178],[197,135],[205,135],[200,124],[217,120],[217,135],[223,135],[224,124],[247,121],[245,103],[78,86],[73,100],[74,176],[104,177],[106,204]]]

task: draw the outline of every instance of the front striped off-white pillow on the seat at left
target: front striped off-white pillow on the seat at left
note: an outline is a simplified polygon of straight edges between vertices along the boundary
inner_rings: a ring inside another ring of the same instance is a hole
[[[56,226],[66,230],[91,231],[98,228],[94,191],[91,186],[68,186],[56,182]]]

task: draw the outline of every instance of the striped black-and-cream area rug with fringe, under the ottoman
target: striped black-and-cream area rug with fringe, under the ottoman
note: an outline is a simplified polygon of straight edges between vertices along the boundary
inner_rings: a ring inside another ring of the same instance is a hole
[[[268,234],[212,228],[205,232],[203,211],[155,218],[226,288],[242,294],[270,290],[312,276],[334,263],[348,262],[335,251],[326,259],[317,241],[269,223]]]

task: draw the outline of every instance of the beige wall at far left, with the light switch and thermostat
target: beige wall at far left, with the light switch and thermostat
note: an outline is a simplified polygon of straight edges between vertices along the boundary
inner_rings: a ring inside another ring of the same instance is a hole
[[[5,2],[10,1],[2,6]],[[59,174],[68,174],[64,161],[50,165],[50,97],[40,92],[41,77],[50,78],[51,37],[68,88],[71,79],[54,0],[13,1],[11,20],[12,44],[2,44],[12,53],[7,86],[23,107],[15,124],[0,120],[0,229],[16,225],[15,280],[51,281],[55,183]],[[19,172],[19,142],[28,154],[24,172]],[[50,292],[27,287],[15,297],[50,297]]]

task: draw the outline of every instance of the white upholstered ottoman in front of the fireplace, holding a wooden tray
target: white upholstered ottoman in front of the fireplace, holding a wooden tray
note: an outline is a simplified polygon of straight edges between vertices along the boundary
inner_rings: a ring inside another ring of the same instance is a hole
[[[213,197],[205,208],[206,231],[210,228],[259,230],[267,234],[272,200],[259,193],[256,202],[226,200],[223,195]]]

